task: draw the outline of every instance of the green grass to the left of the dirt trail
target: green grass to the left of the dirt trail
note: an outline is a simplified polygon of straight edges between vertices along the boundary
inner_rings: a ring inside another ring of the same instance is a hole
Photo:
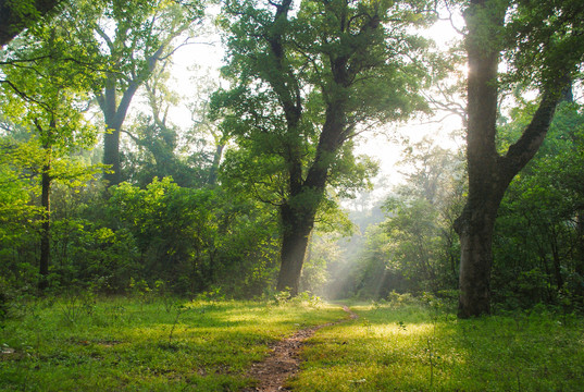
[[[237,391],[269,344],[345,317],[309,303],[64,297],[0,330],[2,391]]]

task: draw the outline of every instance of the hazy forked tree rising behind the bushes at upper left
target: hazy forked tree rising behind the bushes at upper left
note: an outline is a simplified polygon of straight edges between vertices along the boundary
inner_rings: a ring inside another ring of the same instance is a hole
[[[103,163],[110,185],[121,177],[120,138],[129,105],[140,86],[152,75],[157,63],[174,53],[175,41],[202,16],[198,1],[166,0],[80,2],[76,22],[86,45],[100,53],[108,69],[97,101],[103,113]],[[88,28],[89,27],[89,28]],[[96,38],[99,37],[99,38]]]

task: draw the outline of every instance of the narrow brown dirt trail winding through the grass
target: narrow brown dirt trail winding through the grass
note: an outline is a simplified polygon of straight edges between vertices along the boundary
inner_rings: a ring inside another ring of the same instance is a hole
[[[348,306],[344,305],[343,310],[349,315],[349,318],[301,329],[291,336],[275,343],[272,346],[272,353],[261,363],[253,364],[248,371],[250,378],[259,381],[258,385],[246,388],[243,392],[289,391],[283,385],[287,379],[298,372],[300,367],[299,354],[306,341],[312,338],[321,328],[336,326],[358,318]]]

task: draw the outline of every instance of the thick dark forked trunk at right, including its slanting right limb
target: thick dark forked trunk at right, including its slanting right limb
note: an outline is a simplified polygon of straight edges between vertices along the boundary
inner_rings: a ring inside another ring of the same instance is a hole
[[[498,34],[505,13],[506,4],[499,1],[471,0],[464,15],[469,29],[465,42],[469,61],[469,196],[462,215],[455,222],[461,243],[461,318],[490,313],[492,244],[497,210],[509,183],[539,149],[561,99],[557,85],[543,86],[542,101],[531,123],[508,152],[499,156],[495,142],[500,52]]]

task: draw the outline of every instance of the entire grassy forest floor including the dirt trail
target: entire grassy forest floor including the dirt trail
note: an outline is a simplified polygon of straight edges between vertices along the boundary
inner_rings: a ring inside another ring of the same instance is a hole
[[[349,317],[313,299],[23,299],[0,320],[0,390],[582,390],[582,316],[458,320],[436,304],[400,296]]]

